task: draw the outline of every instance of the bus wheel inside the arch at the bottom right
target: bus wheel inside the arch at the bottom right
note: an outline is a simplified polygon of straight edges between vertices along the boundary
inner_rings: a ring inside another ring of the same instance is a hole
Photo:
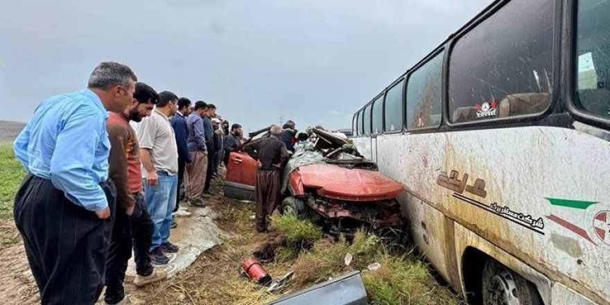
[[[534,284],[495,259],[487,259],[482,272],[482,304],[542,305]]]

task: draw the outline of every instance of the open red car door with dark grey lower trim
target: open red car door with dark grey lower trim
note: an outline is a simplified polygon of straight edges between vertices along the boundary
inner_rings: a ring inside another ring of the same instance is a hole
[[[258,162],[247,153],[232,151],[227,164],[225,196],[238,200],[254,200]]]

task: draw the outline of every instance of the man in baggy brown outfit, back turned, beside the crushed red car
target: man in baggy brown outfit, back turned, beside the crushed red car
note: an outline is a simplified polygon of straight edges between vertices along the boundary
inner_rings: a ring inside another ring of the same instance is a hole
[[[290,155],[286,145],[280,141],[281,128],[272,125],[271,137],[247,143],[244,150],[259,161],[256,173],[256,231],[267,232],[267,216],[273,214],[281,188],[281,168]]]

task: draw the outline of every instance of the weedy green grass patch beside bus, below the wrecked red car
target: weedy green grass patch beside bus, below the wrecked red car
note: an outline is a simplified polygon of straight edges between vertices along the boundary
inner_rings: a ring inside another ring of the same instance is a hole
[[[286,245],[275,250],[275,259],[277,263],[291,262],[297,288],[364,270],[371,304],[460,304],[447,288],[438,285],[428,266],[412,251],[387,244],[375,234],[359,230],[351,242],[343,237],[333,241],[323,238],[320,227],[309,220],[278,214],[272,216],[271,227],[286,237]],[[307,244],[309,247],[303,247]],[[353,256],[349,265],[345,265],[347,254]],[[369,271],[371,263],[380,263],[381,268]]]

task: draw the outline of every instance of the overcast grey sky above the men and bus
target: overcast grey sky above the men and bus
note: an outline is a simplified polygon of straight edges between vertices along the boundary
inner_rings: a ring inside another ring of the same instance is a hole
[[[103,60],[250,130],[351,127],[360,105],[491,0],[4,1],[0,120],[28,121]]]

